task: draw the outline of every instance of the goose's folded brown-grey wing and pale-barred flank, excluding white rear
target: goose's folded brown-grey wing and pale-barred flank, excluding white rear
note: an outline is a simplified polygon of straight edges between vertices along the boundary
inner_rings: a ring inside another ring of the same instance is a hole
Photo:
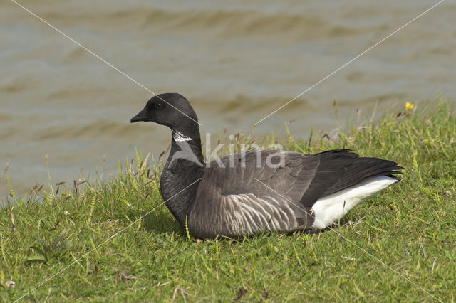
[[[246,151],[220,161],[222,166],[213,161],[204,171],[190,211],[189,228],[202,238],[311,228],[318,198],[402,169],[346,149],[311,155]]]

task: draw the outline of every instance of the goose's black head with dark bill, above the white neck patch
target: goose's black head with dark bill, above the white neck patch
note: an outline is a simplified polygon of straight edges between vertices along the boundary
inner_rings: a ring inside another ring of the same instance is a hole
[[[171,129],[198,129],[198,118],[188,100],[175,92],[155,95],[130,122],[152,121]]]

